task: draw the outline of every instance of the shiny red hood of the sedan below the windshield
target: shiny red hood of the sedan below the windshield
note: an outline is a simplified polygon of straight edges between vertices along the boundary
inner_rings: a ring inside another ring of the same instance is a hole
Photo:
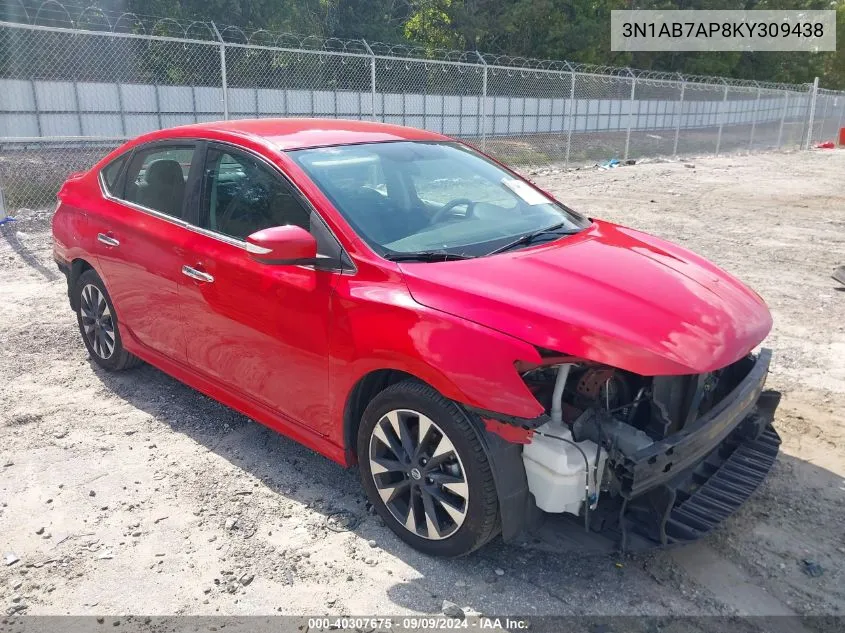
[[[644,376],[725,367],[772,325],[760,296],[731,275],[608,222],[542,246],[400,268],[422,305]]]

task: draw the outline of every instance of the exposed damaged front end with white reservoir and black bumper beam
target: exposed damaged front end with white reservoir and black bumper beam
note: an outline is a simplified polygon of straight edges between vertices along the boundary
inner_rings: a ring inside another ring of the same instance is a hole
[[[576,541],[586,533],[628,551],[695,540],[748,499],[777,456],[768,349],[682,376],[549,360],[520,368],[547,411],[522,454],[529,506],[542,511],[535,542],[559,548],[572,527]]]

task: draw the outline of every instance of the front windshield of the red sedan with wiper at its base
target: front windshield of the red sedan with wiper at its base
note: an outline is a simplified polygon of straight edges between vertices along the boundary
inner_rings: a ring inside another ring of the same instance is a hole
[[[589,225],[457,143],[366,143],[289,154],[385,257],[487,255],[527,234],[550,229],[560,237]]]

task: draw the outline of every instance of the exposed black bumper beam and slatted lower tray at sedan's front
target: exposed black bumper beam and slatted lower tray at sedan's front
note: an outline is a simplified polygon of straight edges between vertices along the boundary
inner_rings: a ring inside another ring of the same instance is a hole
[[[617,456],[615,498],[587,517],[540,513],[523,542],[547,550],[637,551],[686,543],[733,514],[766,478],[780,437],[772,426],[780,394],[763,391],[771,352],[684,431],[630,456]]]

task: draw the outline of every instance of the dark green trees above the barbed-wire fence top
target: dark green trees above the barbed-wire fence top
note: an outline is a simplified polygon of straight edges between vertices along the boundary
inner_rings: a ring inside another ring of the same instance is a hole
[[[614,9],[836,9],[845,0],[112,0],[111,8],[211,19],[345,39],[420,44],[601,65],[845,88],[845,46],[834,53],[620,53],[610,50]],[[119,7],[114,5],[119,4]],[[128,5],[128,6],[126,6]]]

